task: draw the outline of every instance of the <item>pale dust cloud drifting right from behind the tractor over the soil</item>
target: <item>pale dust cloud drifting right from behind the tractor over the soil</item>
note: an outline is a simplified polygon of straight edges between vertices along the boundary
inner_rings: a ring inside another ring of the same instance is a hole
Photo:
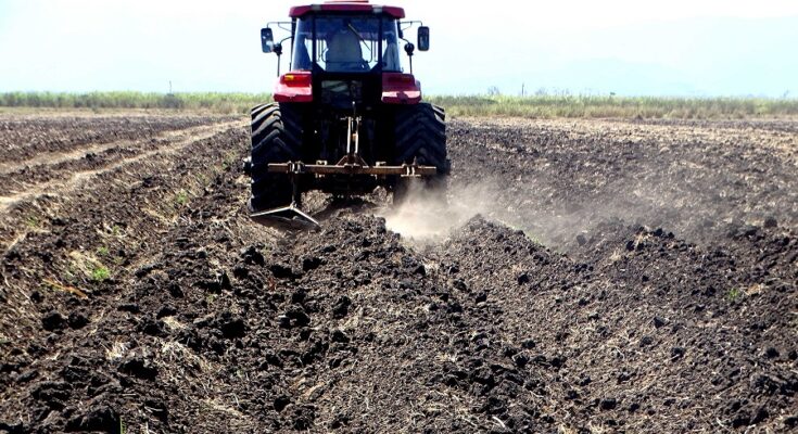
[[[696,197],[670,178],[656,174],[649,178],[619,177],[592,194],[569,192],[534,178],[449,179],[445,193],[414,184],[404,203],[376,214],[385,219],[389,230],[415,244],[438,243],[480,215],[522,230],[529,239],[562,253],[573,252],[607,224],[663,228],[707,241],[731,222],[727,218],[710,222],[696,218],[700,209],[727,216],[722,204]]]

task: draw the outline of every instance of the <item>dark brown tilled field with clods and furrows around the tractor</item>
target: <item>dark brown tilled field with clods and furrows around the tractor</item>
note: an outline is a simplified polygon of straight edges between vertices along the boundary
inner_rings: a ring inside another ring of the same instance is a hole
[[[281,233],[246,119],[4,115],[0,432],[798,431],[797,137],[459,119]]]

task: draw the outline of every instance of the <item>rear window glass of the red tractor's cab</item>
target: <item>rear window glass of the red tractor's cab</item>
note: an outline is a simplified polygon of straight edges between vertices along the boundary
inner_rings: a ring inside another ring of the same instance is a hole
[[[331,73],[369,72],[380,66],[382,71],[402,72],[396,30],[396,20],[375,15],[300,18],[292,69],[311,71],[315,63]]]

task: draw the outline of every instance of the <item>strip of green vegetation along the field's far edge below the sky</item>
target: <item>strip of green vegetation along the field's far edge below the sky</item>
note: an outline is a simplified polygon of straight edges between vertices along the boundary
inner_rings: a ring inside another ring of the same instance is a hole
[[[790,117],[798,115],[798,99],[659,98],[616,95],[433,95],[452,116],[621,117],[718,119]],[[268,93],[142,93],[142,92],[5,92],[0,106],[52,108],[166,108],[214,113],[249,113]]]

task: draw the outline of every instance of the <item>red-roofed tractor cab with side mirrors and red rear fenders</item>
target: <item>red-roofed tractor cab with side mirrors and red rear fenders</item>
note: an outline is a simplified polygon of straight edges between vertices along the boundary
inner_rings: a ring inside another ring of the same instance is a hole
[[[410,60],[416,46],[404,30],[419,22],[402,22],[401,8],[372,5],[367,1],[330,1],[290,11],[290,23],[276,24],[290,36],[275,42],[274,31],[262,29],[264,52],[282,54],[291,41],[289,72],[275,89],[277,102],[319,102],[340,110],[371,110],[379,103],[415,104],[421,100],[420,84],[413,72],[405,74],[400,43]],[[418,48],[429,49],[429,28],[418,29]],[[278,59],[278,76],[279,76]]]

